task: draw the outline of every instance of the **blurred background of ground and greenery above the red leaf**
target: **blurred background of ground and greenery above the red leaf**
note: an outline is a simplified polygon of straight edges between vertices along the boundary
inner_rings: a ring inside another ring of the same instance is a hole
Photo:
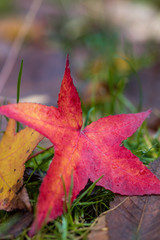
[[[160,125],[159,0],[0,1],[0,101],[57,104],[66,55],[84,117],[152,108]],[[92,113],[91,113],[92,112]]]

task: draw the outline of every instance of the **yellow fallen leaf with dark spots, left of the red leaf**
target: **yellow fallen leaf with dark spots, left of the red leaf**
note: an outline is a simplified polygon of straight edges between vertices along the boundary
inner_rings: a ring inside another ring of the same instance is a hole
[[[0,210],[28,208],[30,203],[23,186],[24,163],[43,136],[26,127],[16,133],[16,121],[10,119],[0,142]]]

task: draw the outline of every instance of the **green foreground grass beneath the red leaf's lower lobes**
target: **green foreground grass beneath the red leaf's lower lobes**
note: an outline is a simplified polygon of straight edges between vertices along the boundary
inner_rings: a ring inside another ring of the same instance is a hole
[[[37,169],[39,169],[39,167]],[[28,178],[30,178],[30,176],[28,176]],[[66,202],[68,203],[66,213],[44,226],[40,232],[33,237],[33,239],[86,239],[87,233],[89,232],[94,219],[98,217],[100,213],[109,209],[109,202],[113,200],[114,196],[110,191],[95,186],[98,180],[95,183],[89,182],[72,205],[69,204],[70,201],[67,201],[68,199],[66,199]],[[25,182],[34,209],[41,181],[42,179]],[[68,197],[69,199],[71,197],[71,192],[72,191],[70,191]],[[19,220],[18,215],[17,213],[12,214],[0,211],[0,219],[0,233],[6,233],[7,237],[9,227]],[[27,231],[28,229],[25,229],[15,239],[30,239],[27,236]]]

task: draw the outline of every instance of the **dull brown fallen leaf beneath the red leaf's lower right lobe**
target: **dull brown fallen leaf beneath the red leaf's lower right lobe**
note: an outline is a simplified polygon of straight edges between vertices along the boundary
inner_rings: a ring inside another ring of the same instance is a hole
[[[151,164],[160,178],[160,159]],[[88,239],[157,240],[160,236],[160,196],[116,195],[110,210],[97,219]],[[106,231],[103,231],[103,230]]]

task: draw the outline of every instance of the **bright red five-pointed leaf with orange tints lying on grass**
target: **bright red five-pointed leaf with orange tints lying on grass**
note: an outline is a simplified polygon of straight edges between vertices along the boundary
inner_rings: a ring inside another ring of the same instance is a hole
[[[40,188],[36,218],[29,235],[45,222],[63,213],[65,182],[67,194],[73,173],[73,201],[88,179],[103,178],[98,185],[122,195],[160,194],[160,181],[124,146],[150,114],[108,116],[82,129],[81,103],[70,76],[67,58],[58,108],[34,103],[9,104],[0,113],[28,125],[48,137],[55,155]]]

